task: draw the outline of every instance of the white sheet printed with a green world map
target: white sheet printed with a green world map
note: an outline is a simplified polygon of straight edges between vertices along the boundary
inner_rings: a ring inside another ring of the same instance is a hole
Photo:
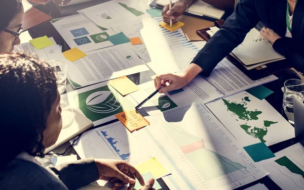
[[[207,107],[243,147],[260,142],[271,146],[294,137],[293,126],[282,115],[246,91],[210,102]]]

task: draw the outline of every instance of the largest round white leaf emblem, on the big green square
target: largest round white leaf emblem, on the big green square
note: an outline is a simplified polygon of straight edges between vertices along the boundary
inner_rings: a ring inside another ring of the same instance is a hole
[[[86,104],[92,112],[102,114],[114,112],[121,107],[121,103],[110,91],[97,91],[90,94]]]

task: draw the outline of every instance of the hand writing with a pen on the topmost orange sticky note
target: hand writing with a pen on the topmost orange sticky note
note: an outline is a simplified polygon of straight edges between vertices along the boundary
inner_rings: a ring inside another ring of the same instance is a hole
[[[163,9],[163,19],[164,22],[170,24],[170,18],[172,19],[172,24],[179,21],[179,16],[186,10],[186,4],[183,1],[172,4],[172,8],[169,10],[169,4]]]

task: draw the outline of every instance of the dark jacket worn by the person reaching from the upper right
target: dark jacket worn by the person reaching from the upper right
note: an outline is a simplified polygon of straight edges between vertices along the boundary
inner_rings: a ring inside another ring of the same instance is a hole
[[[285,56],[292,67],[304,72],[304,1],[298,0],[293,13],[292,38],[285,37],[286,9],[287,0],[241,0],[192,63],[203,69],[203,76],[209,76],[218,62],[232,52],[260,21],[282,37],[273,44],[274,50]]]

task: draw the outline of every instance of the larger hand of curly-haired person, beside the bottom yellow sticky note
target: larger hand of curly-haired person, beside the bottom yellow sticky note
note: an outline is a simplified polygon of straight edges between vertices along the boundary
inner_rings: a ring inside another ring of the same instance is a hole
[[[113,183],[113,189],[119,189],[130,183],[128,190],[133,189],[135,177],[143,186],[144,180],[140,173],[130,164],[122,160],[95,159],[99,179]]]

